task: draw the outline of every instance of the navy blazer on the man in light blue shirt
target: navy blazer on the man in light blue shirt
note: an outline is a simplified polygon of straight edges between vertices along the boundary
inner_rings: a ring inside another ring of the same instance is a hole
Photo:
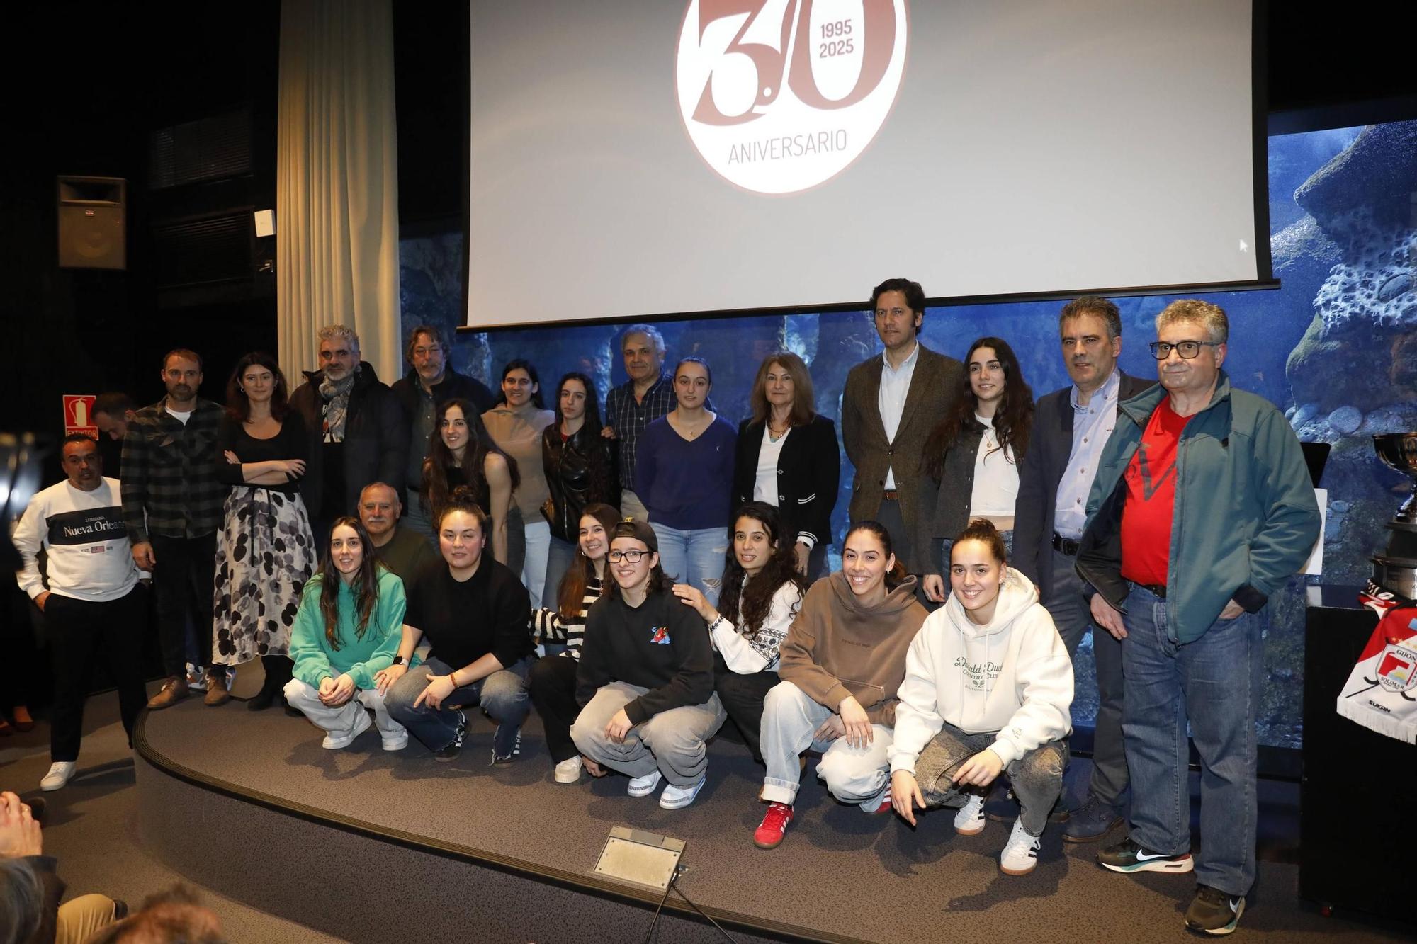
[[[1155,386],[1122,374],[1117,401],[1131,400]],[[1019,498],[1013,506],[1013,567],[1039,588],[1047,602],[1053,585],[1053,513],[1057,509],[1058,482],[1073,455],[1073,387],[1054,390],[1039,398],[1033,408],[1029,454],[1019,465]]]

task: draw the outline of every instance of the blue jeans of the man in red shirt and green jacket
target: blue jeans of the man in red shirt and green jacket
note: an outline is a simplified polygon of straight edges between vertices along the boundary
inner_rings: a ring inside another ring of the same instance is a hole
[[[1254,884],[1255,717],[1264,683],[1267,611],[1217,619],[1178,645],[1166,601],[1132,587],[1122,639],[1122,736],[1132,780],[1131,838],[1166,855],[1190,852],[1186,721],[1200,754],[1196,882],[1226,894]]]

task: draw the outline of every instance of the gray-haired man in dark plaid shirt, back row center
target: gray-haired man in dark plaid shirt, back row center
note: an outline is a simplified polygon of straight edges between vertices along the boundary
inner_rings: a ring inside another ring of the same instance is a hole
[[[619,444],[621,512],[640,522],[649,510],[635,495],[635,448],[639,434],[674,408],[674,383],[665,376],[665,336],[650,325],[631,325],[621,335],[629,380],[605,397],[601,435]]]

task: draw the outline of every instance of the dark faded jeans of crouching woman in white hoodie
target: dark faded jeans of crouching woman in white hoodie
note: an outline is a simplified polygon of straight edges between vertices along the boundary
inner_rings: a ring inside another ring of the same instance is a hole
[[[965,805],[973,787],[956,787],[951,780],[966,760],[999,738],[998,731],[966,734],[945,723],[939,733],[920,751],[915,761],[915,782],[927,807]],[[1063,792],[1063,770],[1067,767],[1067,741],[1044,741],[1005,767],[1019,798],[1019,819],[1030,836],[1041,836],[1049,825],[1049,812]]]

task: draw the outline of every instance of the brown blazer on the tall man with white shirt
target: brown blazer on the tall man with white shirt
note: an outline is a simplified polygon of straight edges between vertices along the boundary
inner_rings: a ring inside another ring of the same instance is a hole
[[[920,483],[925,478],[921,469],[925,439],[954,403],[962,383],[964,364],[920,346],[920,359],[910,378],[905,410],[900,415],[894,441],[886,439],[886,425],[876,405],[881,388],[881,354],[863,360],[846,374],[846,387],[842,390],[842,445],[846,446],[846,458],[856,466],[850,516],[853,522],[876,517],[886,492],[886,471],[894,468],[900,516],[905,527],[913,527],[915,516],[921,513]],[[913,574],[920,573],[915,561],[905,561],[905,568]]]

